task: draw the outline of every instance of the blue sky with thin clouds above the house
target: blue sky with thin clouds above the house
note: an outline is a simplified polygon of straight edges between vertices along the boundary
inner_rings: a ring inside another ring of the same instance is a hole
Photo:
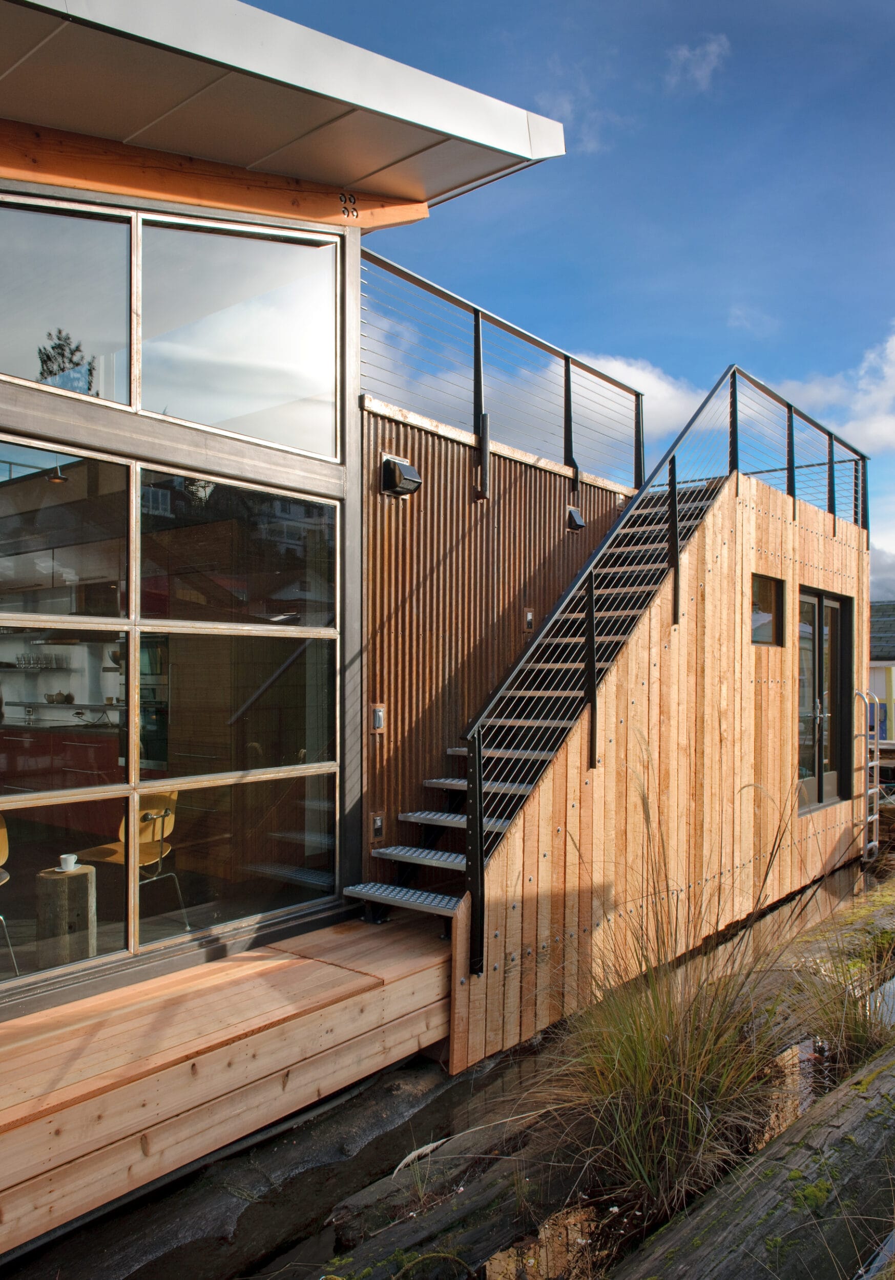
[[[895,598],[891,0],[259,8],[562,119],[565,159],[370,246],[627,371],[654,430],[731,361],[841,428]]]

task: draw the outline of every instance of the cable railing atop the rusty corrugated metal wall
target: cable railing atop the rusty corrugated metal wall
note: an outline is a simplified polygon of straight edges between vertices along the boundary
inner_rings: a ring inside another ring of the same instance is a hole
[[[369,250],[361,251],[366,393],[479,439],[615,484],[643,484],[643,397],[586,361]]]

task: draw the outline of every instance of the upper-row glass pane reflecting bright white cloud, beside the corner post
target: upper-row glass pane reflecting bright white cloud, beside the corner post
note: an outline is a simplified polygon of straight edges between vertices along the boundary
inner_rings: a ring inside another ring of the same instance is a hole
[[[332,457],[335,246],[143,228],[142,407]]]

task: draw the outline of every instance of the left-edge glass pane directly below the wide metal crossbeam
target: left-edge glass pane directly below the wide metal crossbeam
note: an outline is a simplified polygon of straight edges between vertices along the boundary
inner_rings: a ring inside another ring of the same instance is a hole
[[[0,612],[127,613],[128,468],[0,440]]]

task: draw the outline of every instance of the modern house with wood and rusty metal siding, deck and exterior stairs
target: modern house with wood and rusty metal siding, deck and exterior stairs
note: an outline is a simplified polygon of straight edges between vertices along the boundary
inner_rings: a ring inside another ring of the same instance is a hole
[[[732,367],[645,475],[361,248],[562,151],[236,0],[0,0],[0,1251],[858,868],[864,456]]]

